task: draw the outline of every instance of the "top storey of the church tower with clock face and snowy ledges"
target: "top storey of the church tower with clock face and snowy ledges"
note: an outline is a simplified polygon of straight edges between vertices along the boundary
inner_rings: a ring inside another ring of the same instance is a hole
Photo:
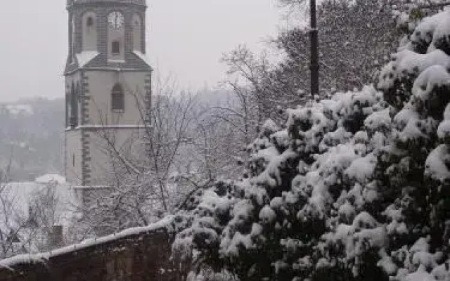
[[[67,0],[67,9],[70,52],[65,74],[89,67],[151,70],[144,55],[146,0]],[[112,63],[117,61],[120,65]]]

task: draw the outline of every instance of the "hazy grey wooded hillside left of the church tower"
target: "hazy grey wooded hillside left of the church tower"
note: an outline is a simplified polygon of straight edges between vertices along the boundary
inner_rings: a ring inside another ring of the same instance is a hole
[[[64,100],[0,104],[0,169],[11,181],[63,173]]]

